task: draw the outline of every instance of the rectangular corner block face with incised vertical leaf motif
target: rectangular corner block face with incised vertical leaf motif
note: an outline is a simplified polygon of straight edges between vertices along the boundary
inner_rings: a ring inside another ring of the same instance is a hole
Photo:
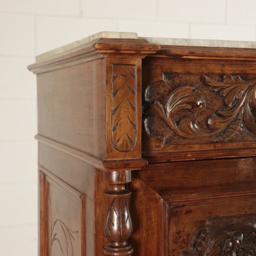
[[[106,59],[107,159],[141,157],[141,59]]]

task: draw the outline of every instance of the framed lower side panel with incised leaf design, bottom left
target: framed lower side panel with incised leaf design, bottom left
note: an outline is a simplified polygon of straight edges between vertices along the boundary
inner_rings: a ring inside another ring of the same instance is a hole
[[[41,211],[42,255],[84,255],[84,195],[41,172]]]

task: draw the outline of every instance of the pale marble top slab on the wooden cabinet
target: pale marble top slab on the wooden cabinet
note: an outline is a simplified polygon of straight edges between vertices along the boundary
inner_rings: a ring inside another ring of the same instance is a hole
[[[134,32],[99,32],[92,36],[84,37],[81,40],[71,42],[52,51],[45,52],[36,57],[36,61],[43,61],[49,57],[56,56],[63,52],[71,51],[78,47],[84,46],[91,41],[99,38],[122,38],[122,39],[145,39],[152,44],[169,45],[169,46],[209,46],[209,47],[232,47],[232,48],[249,48],[256,49],[255,41],[225,41],[210,39],[182,39],[182,38],[162,38],[162,37],[138,37]]]

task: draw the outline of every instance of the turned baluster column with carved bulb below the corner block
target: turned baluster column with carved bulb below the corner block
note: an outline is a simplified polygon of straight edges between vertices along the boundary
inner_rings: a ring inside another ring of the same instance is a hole
[[[104,192],[107,205],[104,235],[109,240],[104,247],[105,255],[128,256],[133,252],[127,242],[132,235],[129,210],[132,192],[126,189],[130,181],[130,170],[104,171],[104,182],[109,184],[109,190]]]

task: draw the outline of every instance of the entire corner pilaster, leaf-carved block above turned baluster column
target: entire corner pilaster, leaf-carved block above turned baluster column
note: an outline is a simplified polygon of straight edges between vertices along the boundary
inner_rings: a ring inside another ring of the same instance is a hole
[[[106,159],[102,167],[104,182],[109,184],[109,190],[104,192],[104,235],[110,242],[104,247],[104,254],[126,256],[133,252],[127,242],[132,235],[132,220],[131,192],[126,184],[132,180],[132,170],[147,164],[141,159],[142,59],[158,51],[159,46],[138,39],[112,45],[102,41],[94,48],[105,57]]]

